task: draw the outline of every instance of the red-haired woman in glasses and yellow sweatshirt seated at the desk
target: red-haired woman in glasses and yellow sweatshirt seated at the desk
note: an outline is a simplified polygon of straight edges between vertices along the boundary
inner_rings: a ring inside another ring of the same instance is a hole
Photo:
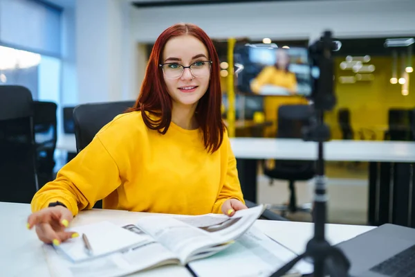
[[[198,26],[156,40],[136,105],[102,127],[54,181],[37,191],[28,228],[60,244],[79,211],[102,207],[200,215],[247,208],[221,118],[219,58]]]

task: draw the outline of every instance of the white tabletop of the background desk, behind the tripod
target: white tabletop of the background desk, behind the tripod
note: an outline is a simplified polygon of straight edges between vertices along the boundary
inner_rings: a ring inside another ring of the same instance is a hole
[[[235,157],[240,159],[316,160],[317,143],[300,139],[230,139]],[[414,162],[415,142],[342,141],[324,143],[326,161]]]

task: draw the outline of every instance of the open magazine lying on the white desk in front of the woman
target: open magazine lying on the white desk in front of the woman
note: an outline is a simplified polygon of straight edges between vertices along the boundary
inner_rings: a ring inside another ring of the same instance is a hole
[[[264,206],[219,214],[149,215],[136,224],[99,222],[71,229],[80,234],[58,247],[44,245],[52,276],[116,277],[162,265],[187,265],[230,247],[255,223]],[[86,251],[86,235],[92,251]]]

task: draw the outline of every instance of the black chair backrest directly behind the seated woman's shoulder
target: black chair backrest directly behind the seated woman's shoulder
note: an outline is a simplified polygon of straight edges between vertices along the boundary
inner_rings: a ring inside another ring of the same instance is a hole
[[[84,104],[75,107],[76,148],[79,153],[89,145],[95,134],[113,118],[133,107],[135,101],[105,102]]]

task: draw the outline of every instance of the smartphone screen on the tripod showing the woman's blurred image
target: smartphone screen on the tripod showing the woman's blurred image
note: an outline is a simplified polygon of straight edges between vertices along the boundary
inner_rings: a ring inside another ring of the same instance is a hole
[[[237,76],[237,89],[241,93],[311,95],[313,80],[307,48],[246,44],[235,48],[234,60],[243,66]]]

